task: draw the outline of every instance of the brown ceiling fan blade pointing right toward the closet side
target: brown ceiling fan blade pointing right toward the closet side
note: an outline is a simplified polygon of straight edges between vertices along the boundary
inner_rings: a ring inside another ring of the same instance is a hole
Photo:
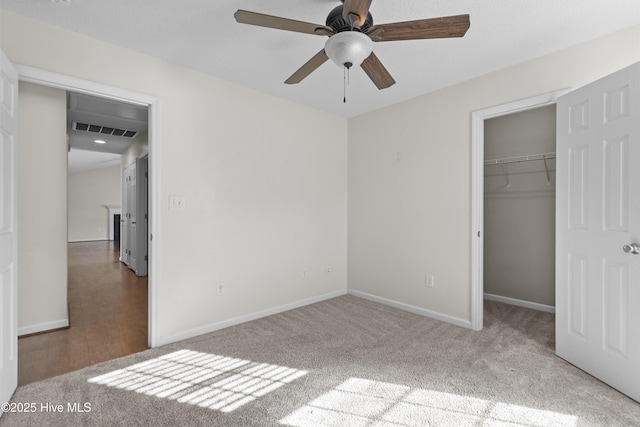
[[[438,39],[462,37],[469,26],[469,15],[455,15],[374,25],[368,34],[374,42]]]

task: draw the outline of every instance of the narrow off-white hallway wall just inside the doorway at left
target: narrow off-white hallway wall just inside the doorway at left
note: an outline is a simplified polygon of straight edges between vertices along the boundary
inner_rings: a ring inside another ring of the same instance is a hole
[[[18,334],[68,325],[64,91],[18,87]]]

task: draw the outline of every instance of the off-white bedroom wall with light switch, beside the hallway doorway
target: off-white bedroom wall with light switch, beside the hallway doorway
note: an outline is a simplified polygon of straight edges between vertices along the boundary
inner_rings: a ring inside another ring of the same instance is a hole
[[[346,119],[5,10],[0,19],[13,62],[159,99],[159,342],[346,290]],[[169,210],[169,195],[186,206]]]

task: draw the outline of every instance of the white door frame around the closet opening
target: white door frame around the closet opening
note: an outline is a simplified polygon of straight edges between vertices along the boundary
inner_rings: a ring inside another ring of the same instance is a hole
[[[570,92],[562,89],[471,113],[471,329],[482,330],[484,319],[484,121],[555,104]]]

